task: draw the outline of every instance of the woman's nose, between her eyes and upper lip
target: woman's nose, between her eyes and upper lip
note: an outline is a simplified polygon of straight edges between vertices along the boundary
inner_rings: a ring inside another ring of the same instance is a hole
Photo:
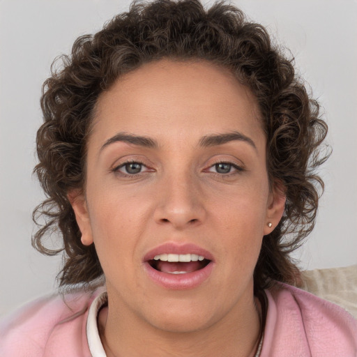
[[[204,195],[189,173],[168,176],[160,183],[154,219],[175,229],[202,224],[206,218]]]

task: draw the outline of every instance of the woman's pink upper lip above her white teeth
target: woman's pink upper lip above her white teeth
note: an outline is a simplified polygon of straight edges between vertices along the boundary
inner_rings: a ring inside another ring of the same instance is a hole
[[[167,242],[162,245],[158,245],[144,255],[144,261],[149,261],[155,257],[155,255],[161,255],[165,253],[171,254],[196,254],[202,255],[205,259],[214,260],[213,255],[208,250],[199,247],[193,243],[173,243]]]

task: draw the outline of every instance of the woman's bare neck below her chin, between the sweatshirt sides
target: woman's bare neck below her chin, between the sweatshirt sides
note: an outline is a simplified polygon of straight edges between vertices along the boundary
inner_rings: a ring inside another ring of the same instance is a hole
[[[243,312],[233,309],[212,326],[178,333],[143,324],[109,301],[109,307],[100,311],[98,324],[107,357],[254,357],[261,337],[260,316],[259,300],[252,298]]]

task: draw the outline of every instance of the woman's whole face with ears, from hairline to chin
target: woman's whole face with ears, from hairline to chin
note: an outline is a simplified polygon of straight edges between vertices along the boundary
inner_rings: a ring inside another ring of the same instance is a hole
[[[261,241],[284,207],[269,190],[254,96],[207,61],[121,77],[98,99],[86,194],[73,207],[109,312],[167,331],[243,317]]]

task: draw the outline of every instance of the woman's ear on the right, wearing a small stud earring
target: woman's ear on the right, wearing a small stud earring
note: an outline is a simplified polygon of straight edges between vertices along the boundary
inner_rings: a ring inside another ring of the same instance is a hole
[[[269,194],[268,207],[266,209],[266,223],[264,225],[264,236],[271,233],[279,224],[282,214],[284,213],[285,202],[285,187],[281,181],[275,180],[273,188]],[[271,227],[269,227],[271,223]]]

